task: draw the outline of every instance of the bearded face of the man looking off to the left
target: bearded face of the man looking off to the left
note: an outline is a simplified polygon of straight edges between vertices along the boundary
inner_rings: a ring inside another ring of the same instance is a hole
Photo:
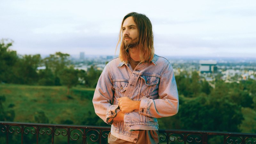
[[[132,17],[128,17],[124,20],[122,34],[125,46],[129,48],[137,46],[138,28]]]

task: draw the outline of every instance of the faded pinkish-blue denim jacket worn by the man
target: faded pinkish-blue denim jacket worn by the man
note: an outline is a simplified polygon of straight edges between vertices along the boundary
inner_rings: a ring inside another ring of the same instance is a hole
[[[120,111],[118,100],[129,97],[140,101],[140,109],[125,113],[124,121],[114,121]],[[173,116],[179,98],[173,69],[168,60],[154,55],[151,62],[141,62],[134,70],[119,57],[105,66],[92,99],[95,113],[107,124],[111,134],[136,143],[139,131],[158,130],[156,118]]]

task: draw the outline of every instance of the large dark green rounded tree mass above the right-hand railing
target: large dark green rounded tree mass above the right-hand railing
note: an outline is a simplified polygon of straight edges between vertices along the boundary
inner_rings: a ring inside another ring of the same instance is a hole
[[[179,111],[181,129],[240,132],[241,107],[226,98],[214,96],[197,98],[184,102]]]

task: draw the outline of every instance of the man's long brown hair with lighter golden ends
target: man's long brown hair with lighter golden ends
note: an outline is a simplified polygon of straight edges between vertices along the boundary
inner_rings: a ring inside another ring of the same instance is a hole
[[[120,60],[124,62],[130,61],[128,47],[125,46],[124,44],[123,31],[122,31],[124,20],[130,16],[133,18],[138,28],[139,34],[138,34],[137,48],[139,49],[139,53],[140,53],[140,62],[150,62],[153,59],[154,52],[155,52],[152,24],[145,14],[141,14],[137,12],[128,13],[126,16],[124,16],[124,19],[122,21],[121,29],[119,32],[119,39],[116,45],[116,49],[117,49],[118,44],[121,43],[120,53],[119,53]]]

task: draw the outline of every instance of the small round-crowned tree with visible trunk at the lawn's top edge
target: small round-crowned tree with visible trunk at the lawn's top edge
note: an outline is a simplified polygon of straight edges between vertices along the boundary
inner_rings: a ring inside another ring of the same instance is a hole
[[[73,86],[76,86],[76,84],[78,83],[77,73],[78,71],[75,70],[73,67],[64,68],[59,72],[60,83],[68,87],[67,94],[69,94],[69,89]]]

